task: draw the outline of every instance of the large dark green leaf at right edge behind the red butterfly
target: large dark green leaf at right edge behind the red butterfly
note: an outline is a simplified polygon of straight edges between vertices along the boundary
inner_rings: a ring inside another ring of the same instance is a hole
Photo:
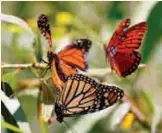
[[[156,49],[157,43],[162,37],[162,2],[158,2],[150,12],[148,17],[148,32],[146,34],[142,53],[142,62],[146,63],[152,52]]]

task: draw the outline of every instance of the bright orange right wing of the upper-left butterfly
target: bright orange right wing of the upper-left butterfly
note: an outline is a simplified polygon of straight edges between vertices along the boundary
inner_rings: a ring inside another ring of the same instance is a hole
[[[60,67],[65,75],[77,73],[77,68],[83,71],[87,69],[86,56],[91,44],[88,39],[79,39],[58,53]]]

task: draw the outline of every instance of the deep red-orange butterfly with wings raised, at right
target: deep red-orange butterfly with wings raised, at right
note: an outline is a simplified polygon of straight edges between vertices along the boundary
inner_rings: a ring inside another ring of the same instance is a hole
[[[128,28],[129,25],[130,19],[124,19],[105,46],[111,69],[121,77],[130,75],[138,68],[141,54],[136,49],[140,47],[147,30],[146,22]]]

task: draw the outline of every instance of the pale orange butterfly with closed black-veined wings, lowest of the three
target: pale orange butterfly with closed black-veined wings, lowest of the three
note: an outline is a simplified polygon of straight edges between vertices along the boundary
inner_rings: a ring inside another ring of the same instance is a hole
[[[115,86],[102,85],[82,74],[67,77],[62,93],[55,103],[57,121],[103,110],[124,96]]]

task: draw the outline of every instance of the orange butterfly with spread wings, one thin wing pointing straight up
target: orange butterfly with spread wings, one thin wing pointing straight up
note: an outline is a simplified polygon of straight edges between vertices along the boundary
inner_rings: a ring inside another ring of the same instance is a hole
[[[78,73],[77,69],[87,70],[86,56],[92,42],[88,39],[79,39],[56,54],[52,52],[52,38],[47,16],[44,14],[40,15],[37,24],[41,33],[48,40],[50,50],[47,53],[47,57],[52,72],[52,80],[57,91],[61,92],[65,76]]]

